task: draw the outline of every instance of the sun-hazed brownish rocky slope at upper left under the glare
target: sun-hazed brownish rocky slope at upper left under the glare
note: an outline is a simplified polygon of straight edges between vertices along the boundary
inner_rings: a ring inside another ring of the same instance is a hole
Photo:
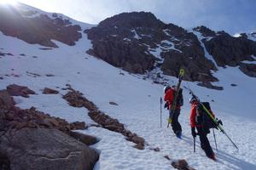
[[[51,40],[67,45],[75,45],[82,37],[81,27],[63,18],[59,14],[46,14],[28,8],[25,4],[17,6],[0,5],[0,31],[4,35],[18,37],[28,43],[38,43],[46,47],[57,48]]]

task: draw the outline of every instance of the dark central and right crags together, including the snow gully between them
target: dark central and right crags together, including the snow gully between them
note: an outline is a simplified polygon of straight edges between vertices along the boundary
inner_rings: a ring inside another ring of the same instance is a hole
[[[202,44],[194,31],[201,33]],[[173,24],[164,24],[154,14],[132,12],[114,15],[84,32],[93,44],[88,54],[133,73],[143,74],[160,67],[164,75],[177,77],[179,68],[183,67],[187,73],[185,80],[203,82],[208,88],[212,87],[211,82],[218,82],[218,78],[212,76],[212,71],[218,71],[218,67],[238,65],[247,76],[254,77],[256,73],[255,65],[241,63],[255,60],[251,55],[256,55],[256,42],[245,37],[231,37],[224,31],[215,32],[206,26],[186,31]],[[218,45],[224,42],[224,47]],[[139,54],[131,47],[137,48]],[[157,50],[160,50],[159,56],[151,53]],[[206,53],[212,55],[214,62],[207,59]],[[134,59],[134,56],[143,60]]]

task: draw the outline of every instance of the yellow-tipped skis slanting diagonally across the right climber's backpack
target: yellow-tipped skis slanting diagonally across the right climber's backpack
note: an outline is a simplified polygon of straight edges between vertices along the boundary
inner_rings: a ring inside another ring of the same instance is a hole
[[[224,135],[230,140],[230,142],[236,147],[236,149],[238,150],[238,147],[236,146],[236,144],[232,141],[232,139],[230,139],[229,135],[224,131],[224,127],[222,127],[222,125],[218,122],[218,120],[212,116],[212,114],[210,113],[210,111],[207,110],[207,107],[205,105],[203,105],[200,101],[200,99],[192,92],[192,90],[190,88],[187,88],[184,86],[184,88],[186,88],[187,90],[189,90],[189,94],[191,94],[199,103],[199,105],[202,106],[203,110],[207,112],[207,115],[210,116],[210,118],[212,119],[212,121],[216,124],[216,126],[218,127],[218,130],[220,130],[221,133],[224,133]]]

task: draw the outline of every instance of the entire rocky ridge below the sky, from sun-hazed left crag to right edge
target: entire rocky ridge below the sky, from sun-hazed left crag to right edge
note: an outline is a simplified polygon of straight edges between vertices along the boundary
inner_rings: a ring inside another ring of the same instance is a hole
[[[212,85],[212,82],[218,82],[218,77],[212,75],[218,67],[239,66],[247,76],[256,77],[256,65],[243,62],[255,61],[253,33],[246,37],[231,37],[224,31],[212,31],[206,26],[187,31],[172,23],[165,24],[154,14],[143,11],[117,14],[97,26],[84,28],[65,15],[45,13],[23,3],[17,8],[9,6],[11,10],[3,5],[0,8],[4,9],[1,10],[3,25],[0,31],[5,35],[58,48],[51,40],[73,46],[84,33],[92,43],[88,54],[131,73],[177,77],[179,68],[184,68],[185,80],[201,82],[213,89],[222,89]],[[9,17],[15,20],[8,20]],[[158,82],[165,84],[160,77]]]

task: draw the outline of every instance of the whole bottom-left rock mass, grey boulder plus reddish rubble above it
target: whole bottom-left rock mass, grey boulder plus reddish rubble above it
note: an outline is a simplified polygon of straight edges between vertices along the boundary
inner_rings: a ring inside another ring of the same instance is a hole
[[[34,107],[21,110],[9,90],[1,90],[0,169],[93,169],[99,154],[86,144],[97,139],[72,131],[84,128]]]

